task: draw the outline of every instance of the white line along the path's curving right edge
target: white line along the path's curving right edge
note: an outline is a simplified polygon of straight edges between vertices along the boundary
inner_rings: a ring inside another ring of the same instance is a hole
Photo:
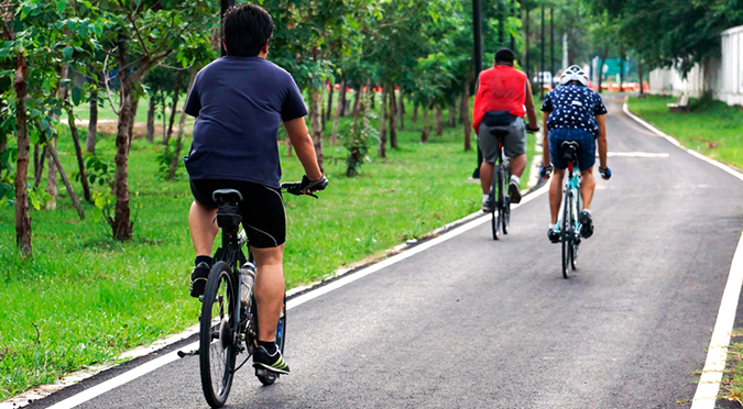
[[[702,159],[743,181],[743,174],[740,172],[731,168],[728,165],[710,159],[709,157],[706,157],[696,151],[685,148],[673,136],[666,135],[655,126],[637,118],[635,114],[630,112],[626,102],[624,103],[623,109],[624,113],[626,113],[630,118],[640,122],[642,125],[655,132],[656,134],[664,136],[666,140],[668,140],[668,142],[688,152],[692,156]],[[741,240],[737,242],[737,247],[735,248],[735,254],[733,255],[733,262],[730,265],[728,283],[725,284],[725,289],[722,292],[720,310],[718,311],[718,318],[714,322],[712,339],[710,340],[710,346],[707,352],[707,361],[704,362],[704,368],[702,369],[701,377],[699,378],[699,385],[697,386],[697,393],[695,394],[691,402],[691,409],[714,408],[718,393],[720,391],[722,374],[725,369],[728,346],[730,345],[730,335],[733,331],[733,324],[735,323],[735,310],[737,309],[737,301],[741,296],[742,286],[743,234],[741,235]]]

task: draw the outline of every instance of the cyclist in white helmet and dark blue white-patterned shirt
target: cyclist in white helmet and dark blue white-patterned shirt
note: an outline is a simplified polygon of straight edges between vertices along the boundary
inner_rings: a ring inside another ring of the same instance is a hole
[[[568,167],[561,155],[560,145],[564,141],[577,141],[580,145],[577,153],[581,177],[580,196],[583,199],[583,209],[579,215],[580,234],[588,239],[593,234],[590,207],[596,189],[593,164],[596,164],[597,142],[599,173],[603,179],[611,177],[611,170],[607,166],[607,108],[601,97],[588,88],[588,77],[583,70],[573,65],[562,73],[560,86],[547,93],[542,112],[542,129],[545,130],[542,176],[549,178],[553,165],[555,166],[555,177],[549,185],[551,219],[547,236],[553,243],[560,240],[556,229],[557,213],[562,201],[562,178]]]

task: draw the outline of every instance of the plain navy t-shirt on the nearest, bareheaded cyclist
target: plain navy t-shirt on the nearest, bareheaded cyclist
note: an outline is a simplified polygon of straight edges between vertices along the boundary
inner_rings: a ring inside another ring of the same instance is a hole
[[[227,56],[198,73],[185,112],[196,117],[184,158],[192,179],[278,188],[278,125],[306,115],[307,108],[294,78],[277,65]]]

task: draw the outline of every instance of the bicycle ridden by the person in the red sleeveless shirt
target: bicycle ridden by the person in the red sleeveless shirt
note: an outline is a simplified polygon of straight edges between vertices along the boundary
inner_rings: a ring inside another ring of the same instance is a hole
[[[493,181],[490,186],[490,224],[493,229],[493,240],[498,240],[501,233],[509,234],[511,224],[511,196],[506,194],[506,186],[511,180],[511,162],[503,152],[503,139],[507,132],[502,130],[491,132],[498,137],[498,156],[493,168]]]

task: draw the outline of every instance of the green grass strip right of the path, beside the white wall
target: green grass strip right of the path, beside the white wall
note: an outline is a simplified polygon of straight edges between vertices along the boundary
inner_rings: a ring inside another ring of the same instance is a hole
[[[702,155],[743,168],[743,110],[721,101],[691,99],[690,112],[668,112],[674,97],[630,98],[630,110]]]

